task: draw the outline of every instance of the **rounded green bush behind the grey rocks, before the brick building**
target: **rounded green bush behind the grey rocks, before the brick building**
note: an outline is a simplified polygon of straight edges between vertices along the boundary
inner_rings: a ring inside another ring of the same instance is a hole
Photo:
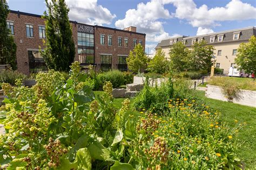
[[[124,84],[125,79],[123,73],[119,70],[111,70],[97,75],[97,86],[99,89],[103,87],[106,81],[110,81],[113,88],[118,88]]]

